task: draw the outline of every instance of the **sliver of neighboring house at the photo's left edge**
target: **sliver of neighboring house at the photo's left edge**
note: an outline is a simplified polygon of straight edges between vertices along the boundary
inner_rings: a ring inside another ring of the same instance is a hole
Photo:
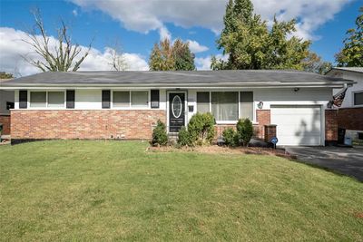
[[[10,79],[0,79],[0,88]],[[0,90],[0,123],[3,124],[2,134],[10,134],[10,109],[14,109],[14,91]]]

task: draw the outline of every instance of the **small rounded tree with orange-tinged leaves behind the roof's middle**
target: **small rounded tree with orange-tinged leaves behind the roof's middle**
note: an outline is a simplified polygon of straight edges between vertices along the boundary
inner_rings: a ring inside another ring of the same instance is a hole
[[[160,44],[154,44],[150,55],[151,71],[191,71],[195,70],[194,54],[188,43],[177,39],[174,44],[164,39]]]

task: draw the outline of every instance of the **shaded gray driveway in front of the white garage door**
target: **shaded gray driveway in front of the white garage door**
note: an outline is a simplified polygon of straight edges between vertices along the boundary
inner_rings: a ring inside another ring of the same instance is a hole
[[[363,182],[363,147],[285,147],[299,161],[332,169]]]

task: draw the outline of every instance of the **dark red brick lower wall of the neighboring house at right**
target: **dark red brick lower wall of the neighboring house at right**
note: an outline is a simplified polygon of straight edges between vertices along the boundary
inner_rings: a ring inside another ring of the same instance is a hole
[[[339,109],[338,128],[363,131],[363,107]]]

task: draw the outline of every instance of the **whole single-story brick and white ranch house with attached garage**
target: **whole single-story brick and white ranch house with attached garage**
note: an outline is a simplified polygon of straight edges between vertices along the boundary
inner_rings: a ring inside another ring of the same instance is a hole
[[[250,118],[260,138],[276,124],[278,144],[319,146],[338,139],[336,111],[327,109],[333,88],[352,83],[295,71],[75,72],[38,73],[2,89],[15,91],[14,141],[151,139],[157,120],[175,133],[211,111],[218,135]]]

